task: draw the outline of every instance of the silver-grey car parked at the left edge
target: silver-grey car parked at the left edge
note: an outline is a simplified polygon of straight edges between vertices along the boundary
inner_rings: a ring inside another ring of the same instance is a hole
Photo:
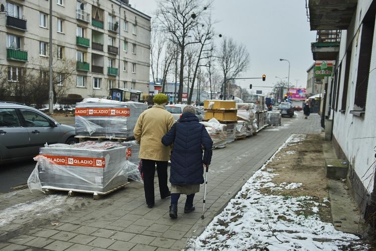
[[[47,144],[74,144],[75,128],[30,106],[0,101],[0,164],[31,159]]]

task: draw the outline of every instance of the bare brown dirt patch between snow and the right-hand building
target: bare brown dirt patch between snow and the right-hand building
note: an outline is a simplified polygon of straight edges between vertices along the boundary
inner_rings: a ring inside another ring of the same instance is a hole
[[[332,222],[330,203],[327,200],[329,192],[322,151],[323,143],[322,135],[306,135],[302,141],[290,143],[281,149],[267,165],[267,169],[273,169],[271,173],[275,175],[271,182],[281,187],[286,187],[291,183],[302,184],[293,189],[262,188],[261,193],[286,197],[313,197],[312,200],[319,204],[306,205],[308,210],[300,213],[306,216],[312,215],[313,212],[309,209],[316,206],[321,220]]]

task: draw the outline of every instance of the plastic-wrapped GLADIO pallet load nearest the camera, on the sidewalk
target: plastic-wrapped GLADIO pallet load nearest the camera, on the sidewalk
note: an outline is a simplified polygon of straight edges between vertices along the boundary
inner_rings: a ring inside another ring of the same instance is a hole
[[[127,183],[142,182],[138,166],[126,160],[127,148],[113,142],[52,144],[40,149],[28,179],[29,189],[106,193]]]

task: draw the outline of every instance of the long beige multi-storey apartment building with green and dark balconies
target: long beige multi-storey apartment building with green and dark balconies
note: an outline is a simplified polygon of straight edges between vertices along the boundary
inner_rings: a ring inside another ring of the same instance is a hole
[[[128,0],[52,0],[52,17],[47,0],[0,4],[6,45],[0,68],[8,70],[8,81],[17,84],[26,71],[48,77],[51,29],[53,71],[61,79],[56,88],[64,95],[103,98],[110,88],[148,93],[151,18]]]

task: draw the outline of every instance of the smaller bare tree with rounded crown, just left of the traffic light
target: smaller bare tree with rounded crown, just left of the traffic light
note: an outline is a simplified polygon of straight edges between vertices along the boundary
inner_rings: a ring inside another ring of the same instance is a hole
[[[228,79],[236,78],[247,69],[250,56],[244,45],[238,45],[232,38],[224,37],[217,58],[223,74],[221,92],[226,99]],[[231,93],[228,94],[230,96]]]

